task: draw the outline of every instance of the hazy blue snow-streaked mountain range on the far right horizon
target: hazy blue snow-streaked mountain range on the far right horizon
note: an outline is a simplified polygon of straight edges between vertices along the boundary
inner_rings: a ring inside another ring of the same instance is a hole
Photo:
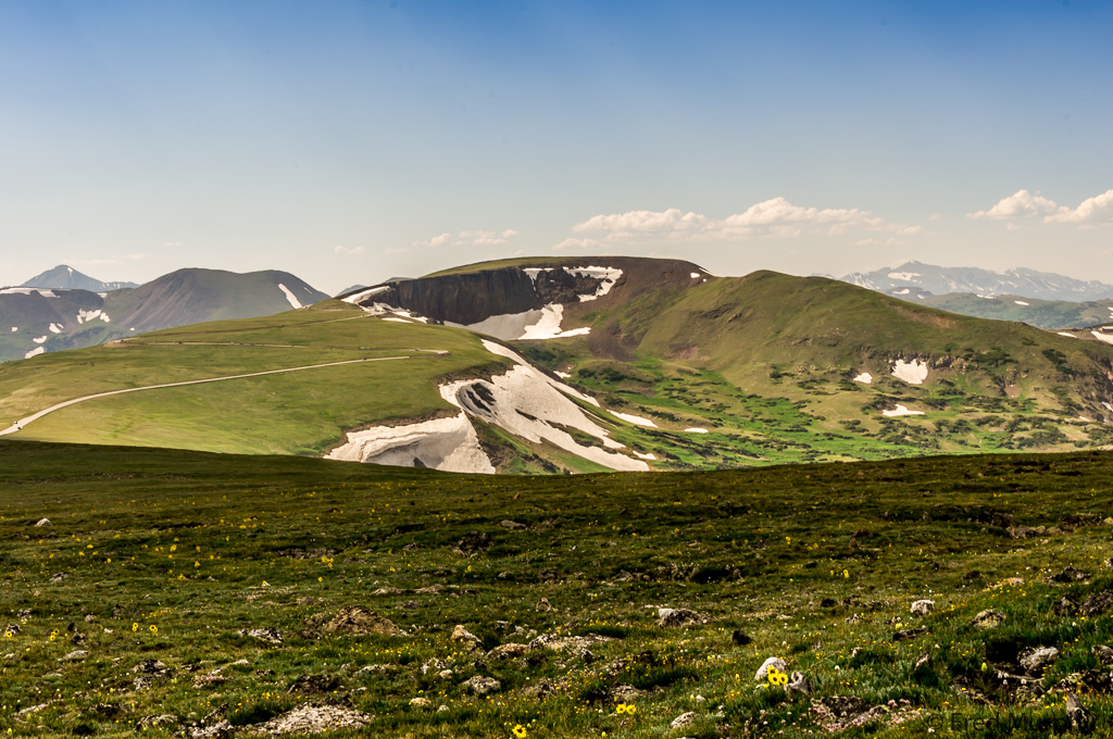
[[[977,267],[937,267],[919,262],[906,262],[899,267],[875,272],[855,272],[840,277],[844,283],[878,293],[900,295],[909,288],[933,295],[969,293],[973,295],[1015,295],[1042,300],[1100,300],[1113,298],[1113,285],[1081,280],[1035,269],[992,272]]]

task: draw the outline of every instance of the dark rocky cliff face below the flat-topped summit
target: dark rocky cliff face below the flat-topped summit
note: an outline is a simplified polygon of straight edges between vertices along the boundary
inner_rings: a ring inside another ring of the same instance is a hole
[[[560,267],[539,273],[534,280],[519,267],[503,267],[390,283],[391,289],[363,302],[385,303],[434,321],[474,324],[550,303],[577,303],[579,295],[594,293],[599,282]]]

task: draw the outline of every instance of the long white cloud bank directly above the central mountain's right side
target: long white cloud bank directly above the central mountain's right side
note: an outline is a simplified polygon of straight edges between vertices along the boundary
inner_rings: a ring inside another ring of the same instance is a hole
[[[919,226],[890,224],[859,208],[808,208],[792,205],[784,197],[770,198],[745,211],[713,220],[698,213],[679,208],[663,211],[630,210],[599,215],[577,224],[572,231],[607,233],[609,242],[639,237],[670,239],[725,240],[750,236],[791,237],[809,233],[841,234],[849,229],[915,234]]]

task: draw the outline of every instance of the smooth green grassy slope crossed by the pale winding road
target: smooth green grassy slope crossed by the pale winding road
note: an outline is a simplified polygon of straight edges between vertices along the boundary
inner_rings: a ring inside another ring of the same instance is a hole
[[[100,398],[52,413],[20,435],[220,452],[321,453],[346,428],[452,411],[436,392],[439,377],[505,364],[474,335],[363,318],[357,308],[329,302],[309,311],[169,329],[124,345],[0,365],[0,423],[9,425],[57,402],[102,391],[376,356],[410,358]]]

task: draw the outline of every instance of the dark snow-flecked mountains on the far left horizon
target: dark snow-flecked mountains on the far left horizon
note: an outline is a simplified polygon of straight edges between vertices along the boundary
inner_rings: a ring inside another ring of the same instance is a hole
[[[0,362],[147,331],[266,316],[328,298],[299,277],[273,269],[178,269],[136,287],[100,289],[112,283],[62,265],[28,282],[33,285],[0,288]]]

